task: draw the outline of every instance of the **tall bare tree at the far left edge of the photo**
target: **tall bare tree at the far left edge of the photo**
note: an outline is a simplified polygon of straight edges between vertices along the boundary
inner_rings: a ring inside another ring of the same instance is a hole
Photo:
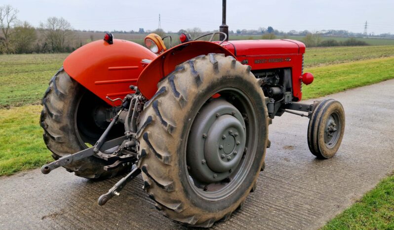
[[[11,52],[10,34],[11,28],[18,22],[16,14],[18,10],[13,8],[11,5],[0,6],[0,27],[2,32],[2,38],[0,37],[0,51]]]

